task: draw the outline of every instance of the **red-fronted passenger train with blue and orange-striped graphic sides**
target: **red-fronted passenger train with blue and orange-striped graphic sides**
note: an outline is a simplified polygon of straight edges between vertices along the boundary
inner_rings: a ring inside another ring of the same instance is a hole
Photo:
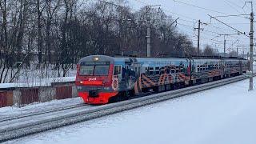
[[[136,94],[175,90],[246,73],[242,58],[134,58],[90,55],[77,66],[75,85],[85,103],[104,105]]]

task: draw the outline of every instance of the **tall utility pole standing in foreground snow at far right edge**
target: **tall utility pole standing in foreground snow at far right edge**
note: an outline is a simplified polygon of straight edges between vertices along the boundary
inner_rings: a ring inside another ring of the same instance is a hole
[[[250,87],[249,90],[254,90],[254,10],[253,2],[251,4],[251,13],[250,13]]]

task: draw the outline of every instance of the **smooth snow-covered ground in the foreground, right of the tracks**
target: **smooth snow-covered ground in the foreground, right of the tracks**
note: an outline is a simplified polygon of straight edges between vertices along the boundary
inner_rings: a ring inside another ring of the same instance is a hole
[[[254,144],[256,90],[248,81],[7,143]]]

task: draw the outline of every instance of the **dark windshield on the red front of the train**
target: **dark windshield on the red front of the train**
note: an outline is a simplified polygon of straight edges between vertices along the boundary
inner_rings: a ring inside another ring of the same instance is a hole
[[[102,76],[108,75],[110,62],[81,62],[79,75]]]

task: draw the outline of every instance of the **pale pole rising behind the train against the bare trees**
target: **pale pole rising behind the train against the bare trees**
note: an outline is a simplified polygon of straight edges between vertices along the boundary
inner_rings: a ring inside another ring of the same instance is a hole
[[[161,5],[152,5],[146,6],[146,57],[151,57],[151,48],[150,48],[150,7],[161,6]]]

